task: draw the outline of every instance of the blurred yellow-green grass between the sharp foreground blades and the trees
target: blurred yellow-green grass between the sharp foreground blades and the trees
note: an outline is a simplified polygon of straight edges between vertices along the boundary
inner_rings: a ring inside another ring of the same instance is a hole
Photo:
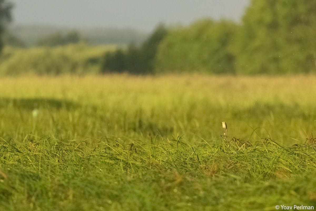
[[[195,134],[208,140],[222,135],[221,122],[226,121],[230,138],[249,140],[253,134],[254,140],[271,138],[290,146],[302,143],[316,129],[315,79],[205,75],[2,78],[0,97],[5,106],[0,121],[2,132],[15,138],[21,130],[13,127],[16,123],[24,133],[54,134],[58,125],[49,124],[54,119],[65,124],[59,135],[69,134],[70,139],[109,134],[139,138],[160,132],[166,137]],[[47,99],[73,108],[56,108],[45,103]],[[12,100],[21,105],[9,103]],[[33,118],[35,108],[39,115]],[[93,129],[83,130],[83,123]]]

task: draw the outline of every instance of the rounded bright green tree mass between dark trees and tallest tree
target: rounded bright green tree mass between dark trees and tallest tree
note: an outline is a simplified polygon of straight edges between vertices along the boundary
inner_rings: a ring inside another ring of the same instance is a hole
[[[229,46],[237,28],[233,22],[205,19],[173,30],[161,42],[156,71],[234,73]]]

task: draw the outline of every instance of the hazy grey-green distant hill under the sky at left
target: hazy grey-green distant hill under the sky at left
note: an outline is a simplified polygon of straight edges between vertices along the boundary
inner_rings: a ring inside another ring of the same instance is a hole
[[[79,34],[93,45],[118,44],[126,45],[131,42],[137,44],[142,43],[148,33],[140,32],[131,28],[61,28],[55,26],[40,25],[15,25],[10,27],[10,33],[22,40],[27,47],[34,46],[36,42],[48,35],[58,32],[67,34],[71,30],[77,30]]]

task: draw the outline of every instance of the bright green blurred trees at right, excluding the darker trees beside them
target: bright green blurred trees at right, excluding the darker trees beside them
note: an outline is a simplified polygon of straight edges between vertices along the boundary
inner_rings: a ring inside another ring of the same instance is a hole
[[[157,72],[237,74],[316,70],[316,2],[253,0],[240,25],[201,20],[161,42]]]

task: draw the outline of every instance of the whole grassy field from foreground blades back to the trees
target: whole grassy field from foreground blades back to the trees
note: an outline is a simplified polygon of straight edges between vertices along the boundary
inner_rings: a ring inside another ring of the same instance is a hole
[[[0,210],[316,208],[315,81],[1,78]]]

